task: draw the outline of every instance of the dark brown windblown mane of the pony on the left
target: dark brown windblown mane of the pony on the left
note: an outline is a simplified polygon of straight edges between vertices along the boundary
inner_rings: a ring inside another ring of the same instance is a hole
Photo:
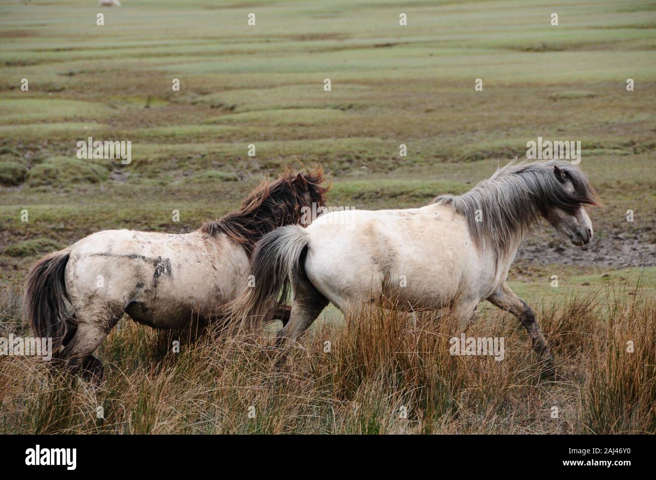
[[[276,181],[262,181],[239,210],[204,223],[201,231],[212,236],[228,235],[243,246],[250,258],[262,235],[277,227],[300,223],[302,207],[312,210],[313,203],[316,208],[325,204],[330,185],[321,187],[324,180],[319,166],[298,173],[288,167]]]

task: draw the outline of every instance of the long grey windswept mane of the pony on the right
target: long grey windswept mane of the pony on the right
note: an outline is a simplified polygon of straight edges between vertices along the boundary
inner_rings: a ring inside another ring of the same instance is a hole
[[[554,167],[572,182],[573,194],[565,190]],[[594,189],[583,172],[562,160],[512,161],[467,193],[441,195],[432,203],[436,202],[451,204],[455,212],[464,215],[476,247],[492,246],[497,255],[523,238],[541,215],[556,208],[573,213],[582,204],[596,205]],[[481,221],[476,221],[477,210]]]

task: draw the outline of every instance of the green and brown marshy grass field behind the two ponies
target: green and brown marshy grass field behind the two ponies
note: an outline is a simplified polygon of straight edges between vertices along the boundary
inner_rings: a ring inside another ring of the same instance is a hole
[[[19,330],[31,263],[92,232],[192,231],[287,164],[321,164],[329,204],[421,206],[539,136],[581,141],[604,206],[582,249],[533,232],[510,286],[547,311],[653,302],[654,1],[2,0],[0,45],[0,316]],[[131,141],[131,164],[79,160],[89,136]]]

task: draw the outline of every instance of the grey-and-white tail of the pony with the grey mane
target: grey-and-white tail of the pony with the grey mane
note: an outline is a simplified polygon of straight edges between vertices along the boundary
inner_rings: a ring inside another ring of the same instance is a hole
[[[251,259],[255,286],[230,304],[233,331],[251,333],[274,320],[276,307],[289,296],[291,282],[304,276],[302,257],[310,234],[300,225],[287,225],[264,235]]]

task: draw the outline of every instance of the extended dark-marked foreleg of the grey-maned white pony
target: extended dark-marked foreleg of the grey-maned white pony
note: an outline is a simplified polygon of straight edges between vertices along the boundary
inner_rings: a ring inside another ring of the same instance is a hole
[[[515,295],[515,293],[506,285],[503,284],[501,287],[495,291],[492,295],[487,298],[492,305],[498,306],[506,312],[512,313],[516,316],[522,325],[525,327],[527,333],[531,337],[533,342],[533,350],[538,354],[541,360],[545,362],[546,369],[544,370],[544,376],[551,376],[554,373],[554,358],[551,356],[549,351],[549,346],[544,339],[540,325],[535,320],[535,314],[531,307],[526,305],[520,297]]]

